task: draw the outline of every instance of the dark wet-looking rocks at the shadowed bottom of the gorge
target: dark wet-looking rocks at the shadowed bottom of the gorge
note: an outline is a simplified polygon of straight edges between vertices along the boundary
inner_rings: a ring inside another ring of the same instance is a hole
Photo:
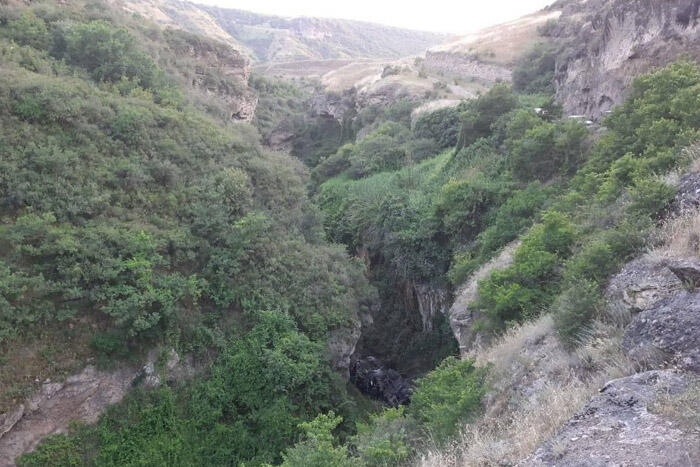
[[[410,402],[411,386],[408,381],[374,357],[353,362],[350,380],[363,393],[380,399],[391,407]]]

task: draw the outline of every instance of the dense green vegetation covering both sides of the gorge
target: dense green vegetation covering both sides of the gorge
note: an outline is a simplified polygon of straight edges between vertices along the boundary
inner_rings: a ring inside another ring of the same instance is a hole
[[[576,345],[700,137],[692,63],[636,80],[596,134],[548,95],[546,47],[514,88],[417,118],[399,100],[309,119],[308,89],[254,78],[256,129],[189,87],[196,36],[92,2],[0,11],[0,350],[87,329],[103,364],[153,348],[209,363],[20,465],[397,465],[448,442],[489,369],[450,356],[444,314],[426,323],[417,301],[444,306],[520,239],[479,283],[481,328],[552,312]],[[261,145],[275,132],[296,158]],[[421,376],[409,406],[372,415],[326,345],[370,313],[360,351]]]

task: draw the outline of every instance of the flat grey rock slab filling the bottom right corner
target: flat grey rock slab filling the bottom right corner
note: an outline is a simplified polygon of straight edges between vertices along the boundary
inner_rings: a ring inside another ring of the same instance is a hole
[[[696,388],[696,378],[671,370],[611,381],[522,465],[699,465],[700,433],[654,413],[665,398]]]

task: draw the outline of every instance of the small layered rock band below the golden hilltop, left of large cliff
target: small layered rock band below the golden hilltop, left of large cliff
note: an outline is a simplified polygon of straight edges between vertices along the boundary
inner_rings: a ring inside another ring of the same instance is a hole
[[[474,77],[491,83],[511,80],[511,71],[508,68],[484,63],[461,53],[428,51],[423,65],[435,73]]]

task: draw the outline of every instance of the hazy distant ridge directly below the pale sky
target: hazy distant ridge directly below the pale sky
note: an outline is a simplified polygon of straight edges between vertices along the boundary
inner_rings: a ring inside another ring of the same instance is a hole
[[[446,38],[436,33],[360,21],[282,18],[211,6],[199,8],[252,50],[255,60],[262,62],[399,58],[422,53]]]

